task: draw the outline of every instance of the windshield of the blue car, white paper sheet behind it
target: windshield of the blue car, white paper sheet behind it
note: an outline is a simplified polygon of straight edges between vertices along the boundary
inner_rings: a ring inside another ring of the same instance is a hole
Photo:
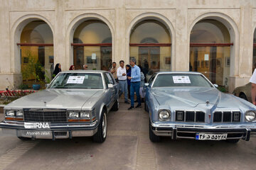
[[[153,84],[153,87],[179,86],[213,87],[200,74],[159,74]]]

